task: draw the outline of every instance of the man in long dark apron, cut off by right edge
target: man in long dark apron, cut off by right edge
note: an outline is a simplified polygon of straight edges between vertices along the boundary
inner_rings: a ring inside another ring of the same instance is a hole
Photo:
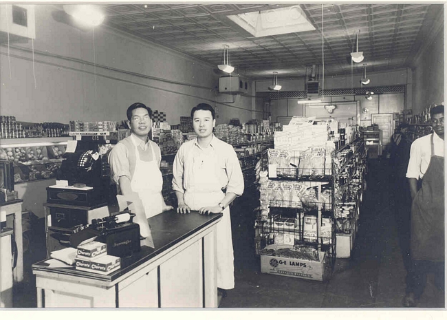
[[[430,118],[434,132],[413,142],[406,171],[413,199],[406,307],[417,306],[430,272],[435,273],[435,284],[444,295],[444,105],[433,107]]]

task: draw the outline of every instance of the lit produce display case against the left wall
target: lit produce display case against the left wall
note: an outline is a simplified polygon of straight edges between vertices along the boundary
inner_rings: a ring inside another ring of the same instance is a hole
[[[14,184],[56,178],[69,137],[0,140],[0,160],[8,160]]]

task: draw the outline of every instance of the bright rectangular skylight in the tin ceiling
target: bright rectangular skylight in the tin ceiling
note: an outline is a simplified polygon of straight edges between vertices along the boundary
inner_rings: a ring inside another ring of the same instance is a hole
[[[315,30],[300,6],[227,16],[255,37]]]

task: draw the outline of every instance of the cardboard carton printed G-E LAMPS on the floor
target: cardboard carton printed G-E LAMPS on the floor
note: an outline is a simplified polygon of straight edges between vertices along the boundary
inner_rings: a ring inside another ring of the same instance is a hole
[[[266,248],[274,249],[277,247],[277,245],[272,244]],[[324,252],[319,253],[319,258],[320,261],[311,261],[261,254],[261,273],[325,281],[330,276],[328,259]]]

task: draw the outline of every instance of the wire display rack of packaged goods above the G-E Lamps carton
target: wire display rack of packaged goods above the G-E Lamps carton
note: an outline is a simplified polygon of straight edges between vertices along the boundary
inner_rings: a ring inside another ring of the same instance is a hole
[[[297,151],[292,151],[295,158]],[[274,237],[286,239],[284,243],[305,246],[316,250],[328,258],[329,266],[334,268],[336,257],[349,257],[357,230],[360,202],[364,190],[366,173],[366,153],[364,142],[358,138],[349,145],[331,153],[331,160],[321,168],[305,168],[298,165],[292,168],[270,167],[268,181],[301,182],[307,190],[314,189],[316,198],[306,195],[297,201],[270,200],[269,213],[259,215],[255,228],[257,255],[275,242]],[[268,162],[268,160],[267,160]],[[274,169],[272,178],[271,170]],[[272,188],[280,189],[277,186]],[[281,189],[285,189],[281,186]],[[274,191],[273,191],[274,192]],[[316,224],[309,232],[307,224]],[[349,246],[345,248],[345,238]],[[339,244],[340,240],[340,244]],[[338,251],[340,250],[340,255]],[[265,250],[264,250],[265,251]],[[262,264],[263,262],[261,262]]]

